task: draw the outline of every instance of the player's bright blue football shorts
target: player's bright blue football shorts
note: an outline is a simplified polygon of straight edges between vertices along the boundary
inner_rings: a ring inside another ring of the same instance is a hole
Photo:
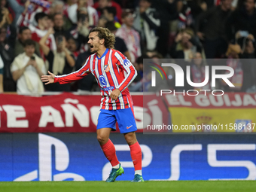
[[[116,122],[118,123],[120,133],[130,133],[137,130],[136,121],[131,108],[118,110],[101,109],[98,117],[97,130],[111,128],[115,131]]]

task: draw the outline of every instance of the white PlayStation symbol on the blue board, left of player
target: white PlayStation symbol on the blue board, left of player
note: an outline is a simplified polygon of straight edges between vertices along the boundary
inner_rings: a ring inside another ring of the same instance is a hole
[[[74,181],[84,181],[84,177],[72,172],[64,172],[69,167],[69,149],[67,146],[52,136],[38,134],[38,159],[39,166],[32,172],[26,173],[14,181],[33,181],[38,178],[39,181],[64,181],[73,179]],[[53,175],[52,167],[52,147],[55,148],[55,168],[61,172]]]

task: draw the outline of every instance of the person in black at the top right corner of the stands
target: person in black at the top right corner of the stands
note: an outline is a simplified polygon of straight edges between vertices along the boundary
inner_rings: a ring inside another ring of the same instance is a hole
[[[237,8],[236,11],[227,18],[226,35],[228,41],[234,43],[236,33],[247,37],[249,34],[256,37],[256,10],[255,0],[246,0],[245,6]]]

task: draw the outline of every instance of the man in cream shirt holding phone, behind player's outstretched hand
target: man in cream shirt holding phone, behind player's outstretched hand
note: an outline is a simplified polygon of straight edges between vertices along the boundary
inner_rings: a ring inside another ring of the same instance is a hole
[[[18,94],[40,94],[44,92],[41,75],[46,74],[44,60],[35,54],[35,41],[24,42],[25,52],[15,57],[11,64],[14,81],[17,81]]]

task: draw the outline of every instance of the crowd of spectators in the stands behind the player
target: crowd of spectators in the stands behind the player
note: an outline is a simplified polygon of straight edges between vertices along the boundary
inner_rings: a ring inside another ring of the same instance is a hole
[[[217,88],[256,92],[255,0],[0,0],[0,9],[0,93],[99,90],[93,75],[64,85],[44,86],[40,79],[48,70],[80,69],[95,26],[113,32],[115,49],[136,67],[130,91],[147,89],[151,81],[143,59],[171,58],[190,65],[193,82],[202,82],[205,66],[221,59],[218,65],[234,69],[236,87],[220,81]],[[174,76],[167,82],[173,89]]]

